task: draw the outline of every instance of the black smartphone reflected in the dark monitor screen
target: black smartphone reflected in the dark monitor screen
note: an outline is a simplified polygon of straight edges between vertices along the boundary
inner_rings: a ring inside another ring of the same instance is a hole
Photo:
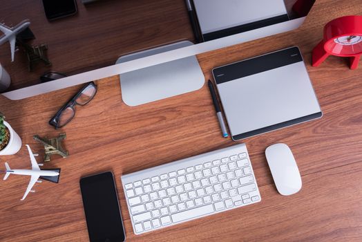
[[[75,0],[43,0],[43,6],[48,20],[75,15],[77,12]]]

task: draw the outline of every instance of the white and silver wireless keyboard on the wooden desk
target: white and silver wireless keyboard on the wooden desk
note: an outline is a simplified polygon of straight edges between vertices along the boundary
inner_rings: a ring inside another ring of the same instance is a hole
[[[121,179],[135,234],[260,202],[245,144]]]

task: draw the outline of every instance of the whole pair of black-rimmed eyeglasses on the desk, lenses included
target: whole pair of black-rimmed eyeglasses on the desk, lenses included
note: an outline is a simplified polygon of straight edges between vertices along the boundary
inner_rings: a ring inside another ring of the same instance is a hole
[[[55,115],[50,119],[49,124],[55,129],[64,127],[75,115],[75,105],[84,106],[93,99],[97,93],[97,86],[89,82],[74,97],[72,97]]]

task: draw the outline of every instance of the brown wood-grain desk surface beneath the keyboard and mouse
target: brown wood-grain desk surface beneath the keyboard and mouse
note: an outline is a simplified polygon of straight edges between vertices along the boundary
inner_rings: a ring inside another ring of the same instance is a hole
[[[300,46],[323,110],[323,118],[243,140],[258,181],[261,203],[135,236],[120,176],[234,145],[220,135],[207,85],[199,91],[137,107],[121,99],[118,77],[97,82],[95,100],[77,108],[75,119],[55,131],[47,122],[78,89],[75,86],[17,102],[0,97],[0,110],[34,151],[32,135],[67,134],[70,158],[59,184],[41,183],[19,201],[28,178],[0,182],[0,241],[87,241],[79,178],[99,171],[115,174],[128,241],[361,241],[362,238],[362,66],[329,57],[310,66],[322,28],[343,15],[361,15],[362,2],[316,1],[305,24],[292,32],[198,55],[206,80],[211,68],[288,46]],[[293,196],[276,191],[265,148],[285,142],[301,171],[303,188]],[[29,169],[26,149],[1,157],[10,167]],[[1,175],[2,176],[2,175]]]

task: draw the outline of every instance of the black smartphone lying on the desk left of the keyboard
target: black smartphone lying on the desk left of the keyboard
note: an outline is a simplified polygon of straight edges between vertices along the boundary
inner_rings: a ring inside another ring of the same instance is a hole
[[[112,172],[80,179],[89,240],[124,241],[126,234]]]

